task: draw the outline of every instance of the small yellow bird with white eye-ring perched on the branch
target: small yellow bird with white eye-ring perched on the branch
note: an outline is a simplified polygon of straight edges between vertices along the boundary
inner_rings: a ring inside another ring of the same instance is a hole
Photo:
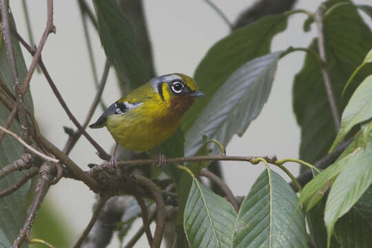
[[[156,76],[112,103],[90,128],[107,127],[116,141],[110,163],[116,164],[118,145],[144,152],[163,143],[176,132],[183,114],[200,97],[205,94],[198,91],[190,76]]]

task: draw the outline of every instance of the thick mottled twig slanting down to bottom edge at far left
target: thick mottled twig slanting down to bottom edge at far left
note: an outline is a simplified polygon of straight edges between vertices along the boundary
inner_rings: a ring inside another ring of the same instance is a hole
[[[28,216],[25,220],[25,223],[23,224],[22,229],[19,231],[18,237],[16,238],[16,240],[14,240],[12,248],[21,247],[23,240],[25,240],[25,238],[28,236],[28,233],[30,232],[30,229],[34,224],[34,220],[37,216],[37,211],[39,211],[41,203],[43,202],[43,199],[50,187],[54,169],[55,167],[48,163],[44,163],[43,165],[41,165],[34,200],[32,200],[32,204],[28,209]]]

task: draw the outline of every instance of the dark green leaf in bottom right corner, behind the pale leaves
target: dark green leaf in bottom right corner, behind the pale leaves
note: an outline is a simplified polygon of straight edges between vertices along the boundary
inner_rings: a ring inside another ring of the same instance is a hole
[[[372,244],[372,187],[335,224],[341,247],[369,248]],[[333,240],[331,242],[333,247]]]

